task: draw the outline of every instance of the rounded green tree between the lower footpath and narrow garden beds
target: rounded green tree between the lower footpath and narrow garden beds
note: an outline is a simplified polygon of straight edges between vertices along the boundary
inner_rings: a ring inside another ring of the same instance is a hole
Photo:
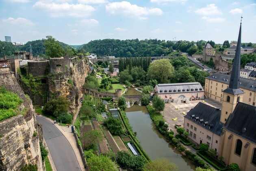
[[[102,133],[99,130],[90,130],[87,132],[83,132],[81,139],[84,142],[83,145],[85,148],[85,146],[99,143],[102,140]]]

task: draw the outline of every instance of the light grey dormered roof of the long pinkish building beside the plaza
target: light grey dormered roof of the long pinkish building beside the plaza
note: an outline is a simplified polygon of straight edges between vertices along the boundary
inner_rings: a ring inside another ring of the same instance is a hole
[[[155,89],[157,90],[158,94],[173,94],[173,93],[188,93],[188,92],[204,91],[200,82],[157,84]]]

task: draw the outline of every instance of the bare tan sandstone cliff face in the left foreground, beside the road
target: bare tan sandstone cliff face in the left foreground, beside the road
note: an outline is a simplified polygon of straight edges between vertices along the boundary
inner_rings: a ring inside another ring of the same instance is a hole
[[[0,68],[0,86],[17,93],[23,100],[20,110],[27,108],[25,115],[18,115],[0,122],[0,170],[18,171],[27,163],[37,165],[43,171],[39,139],[41,129],[36,123],[35,111],[29,97],[20,88],[10,68]],[[37,132],[37,136],[33,133]]]

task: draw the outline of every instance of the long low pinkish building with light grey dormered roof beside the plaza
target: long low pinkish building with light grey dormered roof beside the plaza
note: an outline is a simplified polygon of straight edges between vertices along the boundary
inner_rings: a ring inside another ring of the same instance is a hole
[[[161,97],[165,102],[182,102],[186,100],[204,99],[204,89],[200,82],[185,82],[171,84],[157,84],[154,95]]]

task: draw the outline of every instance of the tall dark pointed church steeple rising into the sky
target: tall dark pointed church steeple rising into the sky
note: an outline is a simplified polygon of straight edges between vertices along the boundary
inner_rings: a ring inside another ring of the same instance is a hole
[[[236,54],[234,57],[234,63],[232,66],[232,72],[230,77],[230,82],[228,85],[228,89],[224,90],[226,93],[230,94],[241,94],[244,93],[239,89],[240,87],[240,61],[241,61],[241,28],[242,28],[242,18],[240,23],[239,36],[236,45]]]

